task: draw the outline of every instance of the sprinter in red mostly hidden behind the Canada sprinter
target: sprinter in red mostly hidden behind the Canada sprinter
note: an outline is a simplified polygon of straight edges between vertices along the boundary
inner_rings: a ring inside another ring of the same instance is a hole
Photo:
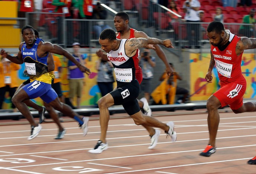
[[[116,38],[117,39],[131,39],[131,38],[139,38],[139,37],[144,37],[147,38],[148,35],[146,33],[144,33],[143,31],[137,31],[135,29],[131,29],[129,27],[129,16],[127,13],[125,12],[119,12],[115,14],[114,17],[114,25],[115,25],[115,29],[116,29]],[[173,73],[173,69],[170,67],[170,64],[167,61],[167,58],[165,56],[164,51],[162,50],[162,48],[159,45],[154,45],[155,48],[155,52],[157,53],[158,57],[160,57],[160,59],[164,62],[165,66],[166,66],[166,72],[167,74],[170,76]],[[140,55],[140,50],[138,50],[137,52],[138,56]],[[97,51],[97,55],[99,57],[105,58],[106,60],[106,56],[102,53],[101,50]],[[138,80],[138,82],[141,84],[142,81],[142,70],[141,67],[139,66],[139,58],[135,59],[135,76],[136,79]],[[143,114],[147,115],[147,116],[151,116],[151,109],[148,105],[148,101],[145,97],[141,98],[140,100],[138,100],[138,103],[140,105],[141,111],[143,112]]]

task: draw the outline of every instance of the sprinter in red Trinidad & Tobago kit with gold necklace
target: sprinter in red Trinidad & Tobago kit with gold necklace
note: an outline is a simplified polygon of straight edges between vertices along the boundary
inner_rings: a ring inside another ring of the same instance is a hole
[[[241,61],[243,51],[256,48],[256,39],[238,37],[226,30],[219,21],[212,21],[207,28],[207,36],[211,44],[211,60],[206,80],[212,83],[212,70],[216,66],[220,79],[220,89],[207,100],[208,128],[210,140],[201,156],[209,157],[215,153],[215,140],[220,116],[218,108],[229,105],[234,113],[256,111],[256,103],[244,102],[246,80],[242,75]],[[248,161],[256,164],[256,160]]]

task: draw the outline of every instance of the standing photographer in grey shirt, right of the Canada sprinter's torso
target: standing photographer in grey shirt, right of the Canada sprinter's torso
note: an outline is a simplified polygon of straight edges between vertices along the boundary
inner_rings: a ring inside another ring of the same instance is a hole
[[[142,82],[140,84],[141,92],[144,92],[144,97],[141,100],[150,100],[151,79],[153,78],[155,67],[155,57],[152,57],[149,49],[144,49],[144,53],[141,53],[139,66],[142,68]]]

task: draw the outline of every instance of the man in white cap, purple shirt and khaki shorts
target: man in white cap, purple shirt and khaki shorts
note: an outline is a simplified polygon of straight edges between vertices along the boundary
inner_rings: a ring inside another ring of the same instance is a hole
[[[79,53],[80,43],[73,43],[73,51],[72,54],[76,60],[85,65],[85,57],[83,54]],[[68,61],[69,68],[69,100],[73,104],[73,98],[76,96],[76,108],[80,108],[81,96],[84,86],[84,78],[83,72],[76,66],[72,61]]]

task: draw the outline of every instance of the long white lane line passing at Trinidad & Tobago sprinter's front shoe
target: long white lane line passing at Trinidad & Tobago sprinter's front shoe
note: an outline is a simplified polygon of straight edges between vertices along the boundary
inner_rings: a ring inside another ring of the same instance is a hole
[[[256,146],[256,144],[253,144],[253,145],[240,145],[240,146],[233,146],[233,147],[221,147],[221,148],[217,148],[217,150],[219,150],[219,149],[226,149],[226,148],[250,147],[250,146]],[[204,150],[204,149],[176,151],[176,152],[165,152],[165,153],[155,153],[155,154],[144,154],[144,155],[131,155],[131,156],[121,156],[121,157],[111,157],[111,158],[99,158],[99,159],[92,159],[92,160],[68,161],[68,162],[61,162],[61,163],[23,165],[23,166],[9,167],[9,168],[35,167],[35,166],[55,165],[55,164],[71,164],[71,163],[81,163],[81,162],[100,161],[100,160],[113,160],[113,159],[132,158],[132,157],[135,157],[135,158],[137,158],[137,157],[151,157],[153,155],[165,155],[165,154],[177,154],[177,153],[190,153],[191,154],[191,152],[197,152],[197,151],[202,151],[202,150]],[[250,158],[243,158],[243,159],[251,159],[251,158],[252,157],[250,157]],[[158,169],[158,168],[156,168],[156,169]],[[159,169],[161,169],[161,168],[159,168]]]

